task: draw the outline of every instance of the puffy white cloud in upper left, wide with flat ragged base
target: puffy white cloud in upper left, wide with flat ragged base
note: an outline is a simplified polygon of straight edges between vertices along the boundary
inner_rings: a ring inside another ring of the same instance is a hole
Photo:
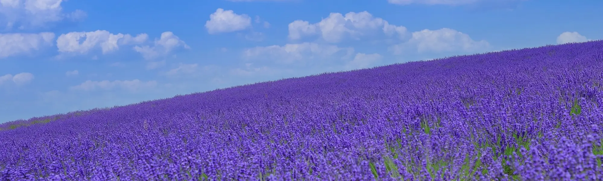
[[[130,34],[112,34],[106,30],[70,32],[58,37],[57,48],[59,52],[87,54],[91,49],[100,46],[103,54],[107,54],[118,50],[121,45],[140,44],[147,38],[147,34],[138,34],[133,37]],[[84,40],[81,41],[81,39]]]

